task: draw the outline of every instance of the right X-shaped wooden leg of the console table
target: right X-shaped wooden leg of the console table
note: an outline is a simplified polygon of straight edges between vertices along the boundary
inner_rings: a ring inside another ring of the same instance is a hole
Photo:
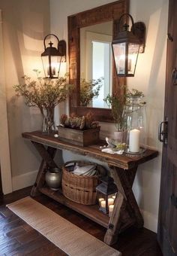
[[[125,227],[129,227],[132,224],[136,224],[136,227],[143,227],[144,221],[132,191],[136,169],[137,167],[125,170],[111,166],[110,172],[118,187],[118,194],[115,198],[115,205],[113,214],[110,217],[109,227],[104,236],[104,242],[108,245],[112,245],[117,241],[118,233]],[[127,223],[123,224],[125,216],[128,216]]]

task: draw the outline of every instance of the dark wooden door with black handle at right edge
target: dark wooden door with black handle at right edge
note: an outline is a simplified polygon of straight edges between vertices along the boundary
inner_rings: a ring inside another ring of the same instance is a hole
[[[175,69],[177,69],[177,1],[169,0],[164,111],[164,118],[167,120],[167,141],[163,142],[157,233],[164,256],[177,255],[177,72]]]

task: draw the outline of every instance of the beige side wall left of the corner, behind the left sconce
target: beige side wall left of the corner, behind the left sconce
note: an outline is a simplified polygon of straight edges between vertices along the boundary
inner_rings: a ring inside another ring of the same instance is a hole
[[[43,51],[43,38],[50,29],[49,0],[0,0],[0,8],[5,67],[5,79],[0,81],[0,87],[3,88],[0,96],[4,93],[3,100],[7,99],[7,102],[4,102],[5,105],[7,104],[8,121],[5,131],[8,130],[13,190],[16,190],[22,185],[25,187],[31,184],[31,172],[38,169],[40,163],[37,151],[22,138],[21,133],[39,130],[41,120],[37,109],[28,108],[22,98],[15,97],[13,85],[22,82],[21,77],[24,74],[33,75],[32,69],[42,69],[40,54]],[[2,114],[2,109],[0,109],[0,114]],[[1,135],[5,131],[1,130]],[[6,146],[3,145],[2,140],[0,140],[0,146],[0,160],[4,161],[3,153],[5,153]],[[5,167],[7,165],[1,166],[1,175],[3,192],[7,194],[10,190],[6,189],[7,186],[5,187],[7,171]],[[26,175],[22,184],[17,184],[21,181],[20,175],[24,173],[29,173],[29,181]]]

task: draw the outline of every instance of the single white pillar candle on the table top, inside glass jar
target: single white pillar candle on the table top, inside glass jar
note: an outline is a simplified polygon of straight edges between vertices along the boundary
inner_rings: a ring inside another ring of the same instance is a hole
[[[130,152],[139,152],[139,136],[140,131],[137,129],[130,130],[129,137],[129,151]]]

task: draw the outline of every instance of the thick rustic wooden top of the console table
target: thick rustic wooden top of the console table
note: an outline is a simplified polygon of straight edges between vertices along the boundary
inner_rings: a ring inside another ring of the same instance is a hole
[[[47,145],[52,148],[58,148],[62,150],[73,151],[77,154],[94,157],[98,160],[108,163],[110,166],[117,166],[122,169],[131,169],[138,166],[139,163],[145,163],[148,160],[157,157],[158,152],[153,150],[146,150],[143,154],[138,156],[131,156],[129,154],[107,154],[101,151],[101,146],[106,144],[100,141],[97,145],[90,145],[82,147],[73,145],[68,142],[62,142],[60,139],[55,138],[54,134],[43,134],[40,131],[34,131],[31,133],[23,133],[23,138],[29,139],[32,142],[37,142],[43,145]],[[104,144],[103,144],[104,143]]]

